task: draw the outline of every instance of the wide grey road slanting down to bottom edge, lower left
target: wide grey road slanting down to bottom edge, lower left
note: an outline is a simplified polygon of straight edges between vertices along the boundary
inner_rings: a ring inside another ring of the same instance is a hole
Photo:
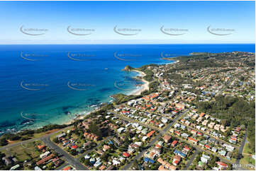
[[[50,136],[43,137],[41,140],[46,144],[46,146],[52,148],[55,150],[55,152],[60,153],[62,155],[62,158],[67,161],[70,165],[74,166],[77,170],[89,170],[87,167],[82,165],[82,163],[79,162],[78,158],[73,158],[69,153],[62,150],[59,146],[57,146],[55,143],[50,141]]]

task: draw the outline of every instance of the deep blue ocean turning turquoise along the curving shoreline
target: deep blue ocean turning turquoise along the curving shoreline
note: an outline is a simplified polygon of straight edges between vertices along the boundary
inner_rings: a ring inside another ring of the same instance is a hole
[[[191,52],[255,52],[255,45],[0,45],[0,131],[63,124],[142,84],[126,65],[167,64]]]

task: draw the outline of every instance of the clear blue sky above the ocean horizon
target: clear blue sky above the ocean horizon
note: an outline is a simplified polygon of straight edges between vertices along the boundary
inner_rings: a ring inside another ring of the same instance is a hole
[[[255,1],[0,1],[0,44],[255,43]]]

